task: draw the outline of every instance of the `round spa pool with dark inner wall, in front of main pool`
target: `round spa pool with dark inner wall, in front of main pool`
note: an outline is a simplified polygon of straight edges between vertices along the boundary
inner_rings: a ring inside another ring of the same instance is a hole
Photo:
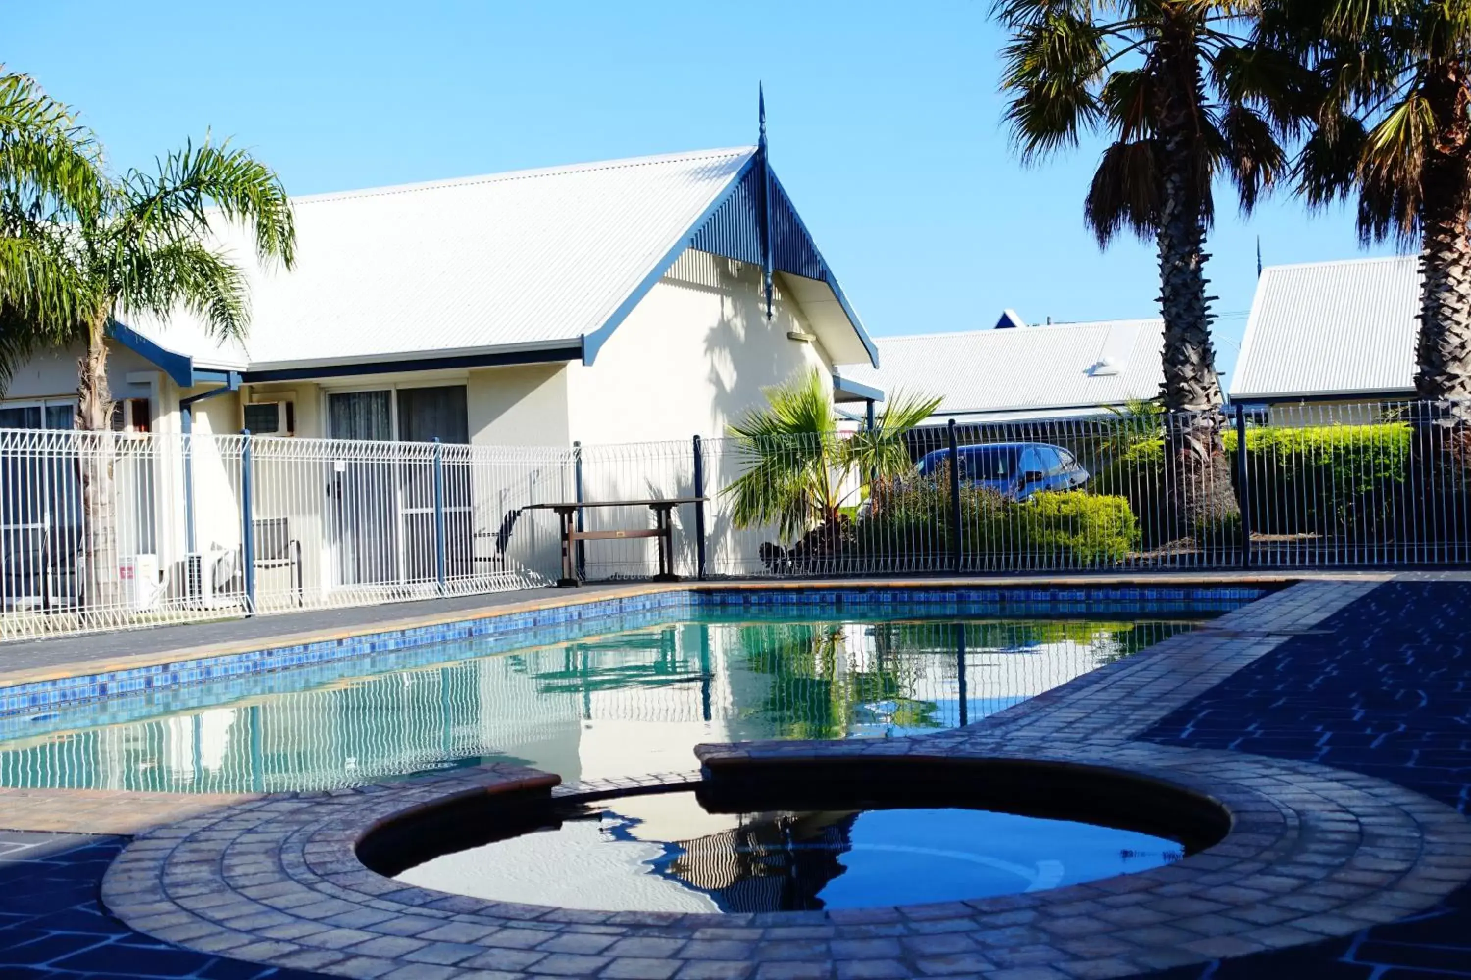
[[[1144,871],[1231,817],[1139,774],[1030,758],[708,761],[694,783],[468,795],[375,827],[405,884],[580,909],[780,912],[981,899]]]

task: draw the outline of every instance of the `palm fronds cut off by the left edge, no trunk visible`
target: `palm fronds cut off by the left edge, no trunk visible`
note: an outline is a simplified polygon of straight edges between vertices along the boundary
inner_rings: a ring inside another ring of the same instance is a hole
[[[0,68],[0,392],[79,320],[75,269],[44,228],[94,213],[97,144],[32,78]]]

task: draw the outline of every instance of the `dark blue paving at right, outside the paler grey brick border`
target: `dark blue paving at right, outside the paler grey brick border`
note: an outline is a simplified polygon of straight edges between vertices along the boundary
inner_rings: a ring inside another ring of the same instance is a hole
[[[1468,586],[1392,582],[1227,677],[1143,735],[1159,745],[1303,760],[1471,811]],[[1171,980],[1471,977],[1471,887],[1405,921]]]

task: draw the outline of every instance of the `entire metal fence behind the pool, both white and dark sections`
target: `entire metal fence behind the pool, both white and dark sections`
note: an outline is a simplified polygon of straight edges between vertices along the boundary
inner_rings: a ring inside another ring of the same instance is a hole
[[[0,430],[0,638],[681,576],[1461,564],[1471,411],[1233,407],[524,448]],[[643,579],[649,538],[575,544]]]

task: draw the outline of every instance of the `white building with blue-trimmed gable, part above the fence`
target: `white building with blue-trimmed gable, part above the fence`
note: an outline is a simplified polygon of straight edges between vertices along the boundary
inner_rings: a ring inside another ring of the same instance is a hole
[[[297,267],[249,266],[249,339],[216,342],[182,313],[122,317],[121,422],[178,432],[193,410],[196,432],[688,438],[722,433],[796,370],[877,360],[762,147],[293,203]],[[0,428],[66,428],[78,356],[22,366]]]

